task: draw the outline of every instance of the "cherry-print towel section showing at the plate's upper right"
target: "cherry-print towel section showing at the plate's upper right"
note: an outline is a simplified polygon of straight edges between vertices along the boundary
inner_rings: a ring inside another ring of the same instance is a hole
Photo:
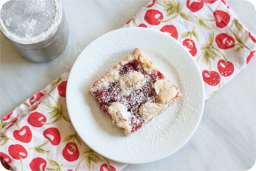
[[[205,100],[234,78],[255,55],[255,35],[226,1],[151,1],[123,27],[147,27],[178,40],[199,66]]]

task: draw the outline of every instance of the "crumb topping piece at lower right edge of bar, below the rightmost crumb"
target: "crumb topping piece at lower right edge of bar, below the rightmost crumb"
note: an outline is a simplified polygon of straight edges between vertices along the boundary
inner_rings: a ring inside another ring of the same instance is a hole
[[[163,106],[159,103],[145,103],[139,109],[139,114],[142,116],[143,120],[150,121],[158,113],[161,112]]]

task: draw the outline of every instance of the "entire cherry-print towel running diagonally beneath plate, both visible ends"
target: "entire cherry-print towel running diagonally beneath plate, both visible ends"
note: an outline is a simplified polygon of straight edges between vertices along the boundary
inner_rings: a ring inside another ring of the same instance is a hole
[[[172,36],[196,60],[206,100],[255,55],[255,35],[225,1],[151,1],[124,27]],[[65,103],[69,71],[1,120],[1,163],[8,170],[121,170],[127,164],[90,149],[73,128]]]

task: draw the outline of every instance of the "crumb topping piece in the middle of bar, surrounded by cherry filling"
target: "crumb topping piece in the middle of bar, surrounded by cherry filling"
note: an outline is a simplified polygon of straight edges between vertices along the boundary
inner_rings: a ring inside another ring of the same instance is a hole
[[[124,74],[119,79],[121,93],[129,96],[133,90],[139,90],[146,83],[147,78],[140,72],[133,71],[132,73]]]

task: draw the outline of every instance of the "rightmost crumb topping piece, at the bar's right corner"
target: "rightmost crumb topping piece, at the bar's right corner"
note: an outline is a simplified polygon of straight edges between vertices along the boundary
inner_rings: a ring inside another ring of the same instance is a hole
[[[152,87],[155,89],[155,93],[157,93],[159,100],[164,104],[176,97],[178,93],[175,86],[167,79],[157,80],[152,84]]]

